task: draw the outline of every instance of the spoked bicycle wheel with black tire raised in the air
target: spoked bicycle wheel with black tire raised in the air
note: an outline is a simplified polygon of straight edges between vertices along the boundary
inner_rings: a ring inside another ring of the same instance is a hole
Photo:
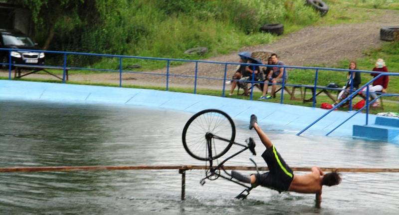
[[[219,126],[222,127],[219,128]],[[205,134],[208,132],[229,140],[226,143],[226,141],[213,138],[212,157],[207,154]],[[187,121],[182,134],[183,146],[187,153],[201,161],[214,160],[224,155],[231,148],[234,138],[233,120],[225,112],[217,109],[205,109],[194,114]],[[222,150],[218,153],[220,148]]]

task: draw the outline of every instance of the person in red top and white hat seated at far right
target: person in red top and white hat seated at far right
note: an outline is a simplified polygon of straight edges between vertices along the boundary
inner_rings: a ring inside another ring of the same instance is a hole
[[[385,62],[383,59],[378,59],[376,62],[376,66],[373,68],[373,71],[376,72],[388,72],[387,66],[385,66]],[[380,73],[371,73],[370,75],[373,77],[376,77]],[[388,87],[388,82],[390,78],[388,75],[381,76],[380,78],[376,79],[372,85],[369,85],[369,93],[370,96],[375,99],[377,97],[377,94],[375,92],[387,92],[387,87]],[[367,88],[363,89],[363,95],[366,95],[366,90]],[[372,105],[373,107],[379,107],[380,106],[380,101],[376,101]]]

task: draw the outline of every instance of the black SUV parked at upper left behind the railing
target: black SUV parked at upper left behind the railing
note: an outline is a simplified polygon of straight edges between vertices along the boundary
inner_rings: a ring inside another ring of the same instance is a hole
[[[37,43],[34,43],[28,36],[17,29],[0,29],[0,48],[18,48],[38,50]],[[8,68],[9,52],[0,50],[0,67]],[[43,65],[44,52],[33,51],[11,51],[11,63],[13,64],[28,64],[28,65]]]

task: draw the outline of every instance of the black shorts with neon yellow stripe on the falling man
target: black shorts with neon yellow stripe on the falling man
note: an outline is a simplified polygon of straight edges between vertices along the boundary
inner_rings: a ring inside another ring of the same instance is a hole
[[[278,192],[288,191],[292,179],[294,178],[293,171],[285,163],[281,155],[273,147],[266,149],[262,154],[269,172],[264,174],[256,174],[256,184],[267,187]]]

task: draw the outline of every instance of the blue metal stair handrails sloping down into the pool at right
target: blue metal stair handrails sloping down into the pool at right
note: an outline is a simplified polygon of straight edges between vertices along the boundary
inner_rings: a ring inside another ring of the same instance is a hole
[[[309,124],[308,126],[306,126],[306,128],[302,129],[300,132],[298,132],[296,135],[301,135],[303,132],[305,132],[306,130],[308,130],[310,127],[312,127],[314,124],[316,124],[317,122],[319,122],[322,118],[324,118],[325,116],[327,116],[328,114],[330,114],[332,111],[334,111],[335,109],[339,108],[342,104],[346,103],[349,99],[352,100],[352,98],[354,96],[356,96],[356,94],[358,94],[360,91],[363,90],[363,88],[366,87],[366,105],[361,109],[363,110],[364,108],[366,108],[366,125],[368,125],[369,123],[369,106],[370,104],[372,104],[373,102],[377,101],[378,98],[380,98],[382,95],[378,96],[376,99],[374,99],[373,101],[369,102],[369,85],[371,83],[373,83],[373,81],[377,80],[378,78],[380,78],[381,76],[399,76],[399,73],[391,73],[391,74],[387,74],[387,73],[380,73],[379,75],[377,75],[376,77],[374,77],[373,79],[371,79],[370,81],[368,81],[366,84],[364,84],[363,86],[359,87],[359,89],[355,90],[355,92],[353,92],[351,95],[349,95],[347,98],[343,99],[341,102],[339,102],[337,105],[335,105],[332,109],[330,109],[329,111],[327,111],[325,114],[323,114],[321,117],[319,117],[318,119],[316,119],[314,122],[312,122],[311,124]],[[399,96],[398,94],[385,94],[384,96]],[[361,111],[360,110],[360,111]],[[354,115],[358,114],[360,111],[357,111]],[[334,130],[336,130],[338,127],[340,127],[341,125],[343,125],[345,122],[347,122],[350,118],[352,118],[354,115],[352,115],[351,117],[349,117],[348,119],[346,119],[343,123],[341,123],[340,125],[338,125],[336,128],[334,128],[332,131],[330,131],[329,133],[326,134],[329,135],[331,134],[331,132],[333,132]]]

